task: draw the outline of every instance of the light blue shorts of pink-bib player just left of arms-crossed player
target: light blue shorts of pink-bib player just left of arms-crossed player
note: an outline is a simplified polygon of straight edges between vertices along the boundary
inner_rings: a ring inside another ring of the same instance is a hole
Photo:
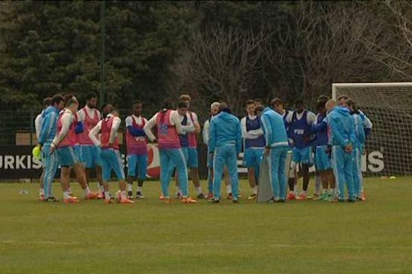
[[[102,149],[102,177],[104,182],[108,182],[111,179],[111,171],[115,172],[118,180],[124,180],[124,165],[120,152],[116,149]]]

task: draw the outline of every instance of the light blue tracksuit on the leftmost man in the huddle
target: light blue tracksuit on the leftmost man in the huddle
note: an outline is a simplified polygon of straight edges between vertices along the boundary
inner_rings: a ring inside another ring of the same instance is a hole
[[[59,110],[54,106],[46,108],[42,114],[40,135],[38,143],[43,145],[42,158],[45,164],[45,175],[43,184],[45,189],[45,198],[52,197],[52,183],[58,167],[58,158],[56,152],[50,154],[50,145],[54,136],[56,136],[57,119]]]

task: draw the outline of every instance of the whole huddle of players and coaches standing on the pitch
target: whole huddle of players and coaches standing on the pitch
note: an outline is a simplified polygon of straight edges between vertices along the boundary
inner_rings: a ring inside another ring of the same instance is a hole
[[[252,190],[249,199],[256,199],[263,158],[269,166],[268,180],[273,190],[271,201],[308,199],[309,169],[313,164],[316,170],[316,199],[365,199],[361,157],[371,122],[349,97],[343,95],[338,102],[325,96],[319,97],[316,115],[306,110],[301,100],[295,102],[295,110],[291,111],[284,110],[280,99],[272,99],[266,108],[258,99],[249,100],[246,103],[247,116],[241,120],[233,115],[227,103],[212,103],[211,116],[203,125],[203,142],[208,148],[207,195],[203,194],[198,175],[196,136],[201,133],[201,125],[196,114],[190,110],[190,102],[189,95],[181,95],[176,108],[165,101],[161,110],[150,120],[141,116],[141,101],[133,103],[133,114],[125,121],[126,178],[117,137],[121,125],[119,111],[112,105],[104,105],[101,114],[97,109],[98,98],[93,93],[87,95],[87,103],[80,110],[78,99],[71,94],[46,98],[45,109],[35,121],[38,136],[35,149],[41,151],[41,155],[34,155],[43,162],[40,200],[57,201],[52,192],[52,182],[59,165],[64,203],[79,202],[71,194],[71,170],[76,173],[84,199],[104,199],[105,203],[113,203],[108,187],[112,171],[119,182],[119,203],[133,203],[135,177],[135,198],[143,199],[149,141],[159,147],[160,199],[164,203],[171,201],[169,184],[174,171],[178,189],[176,198],[182,203],[196,203],[196,199],[189,195],[188,169],[198,199],[206,198],[218,203],[220,182],[224,177],[227,197],[237,203],[240,197],[237,160],[242,147],[243,164],[248,168]],[[288,151],[292,151],[290,169],[286,166]],[[299,195],[298,167],[304,181],[303,191]],[[98,179],[98,192],[89,189],[91,169]]]

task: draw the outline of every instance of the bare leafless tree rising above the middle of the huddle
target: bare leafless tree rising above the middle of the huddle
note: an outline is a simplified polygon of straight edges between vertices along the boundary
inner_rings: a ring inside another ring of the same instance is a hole
[[[246,33],[222,27],[207,29],[185,45],[188,70],[206,99],[227,101],[240,113],[246,97],[254,95],[255,73],[259,71],[264,29]]]

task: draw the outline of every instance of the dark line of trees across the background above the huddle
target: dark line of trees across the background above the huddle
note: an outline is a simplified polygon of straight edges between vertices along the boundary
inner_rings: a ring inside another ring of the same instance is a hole
[[[410,1],[106,1],[104,101],[194,107],[276,96],[313,104],[333,82],[412,78]],[[100,92],[100,1],[0,3],[1,110]]]

